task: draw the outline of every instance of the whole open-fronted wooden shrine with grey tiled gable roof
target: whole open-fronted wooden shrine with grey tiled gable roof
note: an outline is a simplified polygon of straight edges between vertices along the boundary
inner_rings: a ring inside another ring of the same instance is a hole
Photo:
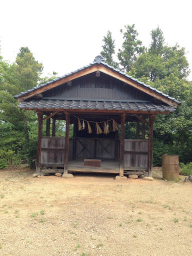
[[[101,56],[14,97],[20,108],[37,112],[37,173],[80,171],[151,176],[155,115],[173,112],[180,103],[109,66]],[[46,136],[42,136],[43,120]],[[56,120],[66,121],[65,137],[55,136]],[[124,139],[126,122],[136,123],[135,139]],[[70,139],[69,124],[73,124]]]

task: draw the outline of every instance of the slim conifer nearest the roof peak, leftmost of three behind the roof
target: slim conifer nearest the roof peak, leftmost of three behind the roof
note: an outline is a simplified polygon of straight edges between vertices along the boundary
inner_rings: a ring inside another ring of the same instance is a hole
[[[104,44],[102,45],[102,50],[100,54],[104,57],[104,60],[107,64],[117,67],[117,62],[113,61],[113,54],[115,53],[114,40],[112,39],[111,32],[108,30],[106,36],[102,39]]]

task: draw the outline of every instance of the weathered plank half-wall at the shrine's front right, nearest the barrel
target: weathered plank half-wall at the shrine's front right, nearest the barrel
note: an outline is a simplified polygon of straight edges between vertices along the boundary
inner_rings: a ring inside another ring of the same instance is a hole
[[[124,140],[124,170],[148,168],[148,140]]]

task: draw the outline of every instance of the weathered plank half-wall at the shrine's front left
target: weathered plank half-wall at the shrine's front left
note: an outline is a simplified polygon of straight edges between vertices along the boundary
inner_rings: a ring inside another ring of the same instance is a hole
[[[64,164],[64,137],[42,137],[41,164]]]

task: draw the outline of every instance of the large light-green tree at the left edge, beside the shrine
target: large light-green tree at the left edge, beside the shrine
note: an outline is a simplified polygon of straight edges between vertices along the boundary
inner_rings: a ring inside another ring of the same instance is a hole
[[[31,111],[20,111],[13,95],[36,86],[41,71],[42,64],[34,59],[28,47],[20,48],[15,63],[10,65],[2,59],[0,61],[0,120],[3,124],[1,131],[4,132],[4,141],[10,141],[15,150],[19,145],[25,156],[28,156],[31,128],[27,121],[30,121],[30,124],[31,121],[36,123],[36,116]],[[6,127],[10,128],[12,134],[5,132]]]

